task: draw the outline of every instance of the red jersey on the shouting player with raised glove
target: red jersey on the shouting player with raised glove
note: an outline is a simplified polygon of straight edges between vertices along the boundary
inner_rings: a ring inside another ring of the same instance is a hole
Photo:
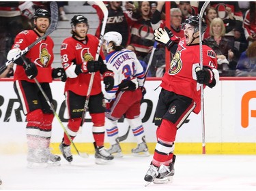
[[[195,68],[200,66],[199,44],[186,46],[185,38],[178,44],[177,51],[171,60],[169,71],[162,77],[160,86],[170,92],[181,94],[193,99],[197,106],[196,114],[200,111],[200,84],[197,83]],[[216,54],[212,48],[203,45],[203,66],[217,68]]]

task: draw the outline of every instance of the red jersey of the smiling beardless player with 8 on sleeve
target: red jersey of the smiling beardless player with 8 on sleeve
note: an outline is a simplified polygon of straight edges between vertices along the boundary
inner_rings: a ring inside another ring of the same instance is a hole
[[[76,94],[86,96],[91,73],[76,75],[74,69],[76,65],[81,65],[84,61],[95,60],[98,44],[98,38],[89,34],[87,34],[87,38],[84,41],[79,41],[74,37],[68,37],[63,41],[61,44],[61,62],[68,76],[65,91],[71,90]],[[100,56],[102,60],[105,60],[102,50],[100,51]],[[102,92],[100,81],[100,71],[97,71],[94,75],[91,95]]]

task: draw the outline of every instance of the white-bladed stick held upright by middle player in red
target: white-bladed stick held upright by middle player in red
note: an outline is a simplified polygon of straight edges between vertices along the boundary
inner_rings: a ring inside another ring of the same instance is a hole
[[[103,41],[103,35],[105,33],[105,28],[106,28],[106,20],[109,16],[109,10],[106,8],[106,5],[103,3],[103,1],[95,1],[98,6],[100,7],[100,9],[102,10],[103,14],[104,14],[104,19],[102,22],[102,28],[100,31],[100,39],[99,39],[99,44],[98,44],[98,49],[96,52],[96,56],[95,56],[95,60],[98,60],[99,56],[100,56],[100,49],[101,49],[101,45],[102,45],[102,41]],[[89,104],[89,97],[91,94],[91,88],[92,88],[92,84],[94,83],[94,75],[95,72],[91,73],[91,78],[89,81],[89,86],[88,86],[88,90],[87,90],[87,95],[86,95],[86,99],[85,99],[85,106],[83,107],[83,114],[82,114],[82,121],[81,121],[81,125],[80,128],[83,126],[84,122],[85,122],[85,114],[86,111],[88,109],[88,104]]]

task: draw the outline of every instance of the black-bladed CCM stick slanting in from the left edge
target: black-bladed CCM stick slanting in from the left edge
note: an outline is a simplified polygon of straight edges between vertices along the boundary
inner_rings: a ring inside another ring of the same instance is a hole
[[[53,1],[53,2],[51,2],[50,7],[51,7],[51,24],[48,27],[46,33],[44,33],[44,35],[42,35],[42,37],[38,38],[31,45],[29,45],[27,48],[25,48],[24,50],[21,50],[21,52],[16,54],[16,56],[14,56],[14,58],[8,60],[5,63],[5,65],[3,65],[3,67],[1,67],[0,73],[3,70],[5,70],[7,68],[7,66],[10,65],[10,63],[14,63],[14,61],[17,60],[18,58],[20,58],[20,56],[22,56],[23,54],[26,54],[27,52],[29,52],[29,50],[31,48],[33,48],[33,46],[38,44],[38,42],[40,42],[42,39],[46,38],[48,35],[53,33],[53,31],[55,31],[55,29],[57,27],[57,23],[58,23],[58,17],[59,17],[59,15],[58,14],[56,15],[56,13],[55,13],[55,12],[58,13],[58,5],[57,5],[57,3],[55,1]]]

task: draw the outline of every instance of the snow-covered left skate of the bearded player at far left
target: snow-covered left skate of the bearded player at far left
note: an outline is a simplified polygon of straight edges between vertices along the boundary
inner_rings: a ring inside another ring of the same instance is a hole
[[[44,155],[44,150],[40,149],[29,150],[27,154],[27,162],[27,167],[30,169],[44,168],[48,166],[48,159]]]

